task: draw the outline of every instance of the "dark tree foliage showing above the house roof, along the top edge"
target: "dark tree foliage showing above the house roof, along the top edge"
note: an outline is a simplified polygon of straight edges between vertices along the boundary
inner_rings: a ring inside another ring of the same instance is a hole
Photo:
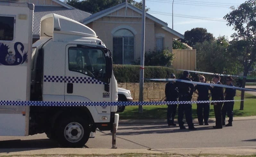
[[[124,2],[125,0],[64,0],[64,3],[90,13],[100,12],[102,10]],[[134,0],[127,0],[127,2],[136,6],[139,9],[142,8],[142,1],[136,2]],[[149,8],[146,8],[145,10],[147,12],[149,11]]]

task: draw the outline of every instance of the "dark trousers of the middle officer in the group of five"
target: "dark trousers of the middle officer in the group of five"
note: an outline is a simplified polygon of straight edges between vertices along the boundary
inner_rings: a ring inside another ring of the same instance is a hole
[[[208,123],[209,112],[210,112],[210,103],[197,103],[197,119],[199,123]]]

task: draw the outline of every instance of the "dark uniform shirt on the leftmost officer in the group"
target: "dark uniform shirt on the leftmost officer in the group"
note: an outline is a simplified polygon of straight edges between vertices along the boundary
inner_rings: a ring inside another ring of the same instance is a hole
[[[168,82],[165,85],[165,96],[166,101],[177,101],[178,98],[178,90],[175,86],[175,83]]]

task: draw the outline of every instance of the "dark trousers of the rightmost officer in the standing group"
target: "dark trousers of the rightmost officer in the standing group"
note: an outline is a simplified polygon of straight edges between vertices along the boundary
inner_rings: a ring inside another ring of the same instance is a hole
[[[228,123],[232,123],[233,121],[233,108],[234,108],[234,102],[224,102],[224,105],[221,109],[222,112],[222,123],[225,124],[225,118],[226,115],[229,117]]]

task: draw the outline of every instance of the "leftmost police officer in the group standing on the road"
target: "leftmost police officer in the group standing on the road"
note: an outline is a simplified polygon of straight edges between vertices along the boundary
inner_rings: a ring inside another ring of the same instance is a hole
[[[175,75],[171,74],[171,79],[175,79]],[[166,101],[178,101],[178,90],[175,81],[170,81],[165,85]],[[176,114],[177,104],[167,104],[167,123],[168,126],[176,126],[174,117]]]

